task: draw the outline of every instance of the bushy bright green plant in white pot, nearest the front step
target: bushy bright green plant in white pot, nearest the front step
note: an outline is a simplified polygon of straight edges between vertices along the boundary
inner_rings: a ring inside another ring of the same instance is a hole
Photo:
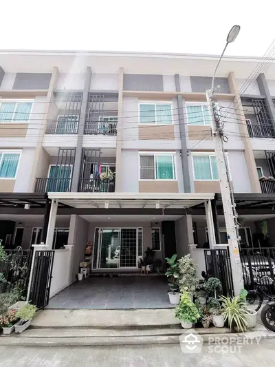
[[[183,328],[192,328],[192,324],[200,317],[197,307],[190,301],[186,292],[181,295],[179,305],[175,308],[175,317],[181,321]]]

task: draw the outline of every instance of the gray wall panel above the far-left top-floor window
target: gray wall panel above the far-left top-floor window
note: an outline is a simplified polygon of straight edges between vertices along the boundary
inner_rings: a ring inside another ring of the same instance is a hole
[[[15,77],[13,90],[47,90],[52,74],[18,72]]]

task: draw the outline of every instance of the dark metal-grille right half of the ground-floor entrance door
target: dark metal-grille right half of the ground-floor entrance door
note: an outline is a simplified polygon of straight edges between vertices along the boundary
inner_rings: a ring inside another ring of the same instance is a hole
[[[137,266],[137,229],[122,228],[120,233],[120,267]]]

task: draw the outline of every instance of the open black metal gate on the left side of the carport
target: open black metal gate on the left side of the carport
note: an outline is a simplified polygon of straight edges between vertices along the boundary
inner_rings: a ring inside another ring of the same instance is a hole
[[[29,300],[37,308],[49,304],[54,251],[35,251]]]

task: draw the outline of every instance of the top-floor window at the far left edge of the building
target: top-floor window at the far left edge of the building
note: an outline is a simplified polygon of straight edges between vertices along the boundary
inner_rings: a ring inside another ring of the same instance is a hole
[[[17,122],[30,120],[32,102],[2,101],[0,102],[0,121]]]

